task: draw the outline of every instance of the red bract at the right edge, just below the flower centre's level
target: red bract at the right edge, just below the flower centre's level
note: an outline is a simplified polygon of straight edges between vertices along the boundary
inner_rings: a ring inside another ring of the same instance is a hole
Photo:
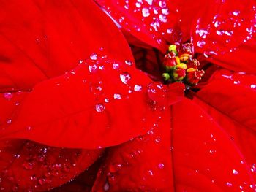
[[[220,70],[197,96],[244,126],[256,130],[256,77]]]

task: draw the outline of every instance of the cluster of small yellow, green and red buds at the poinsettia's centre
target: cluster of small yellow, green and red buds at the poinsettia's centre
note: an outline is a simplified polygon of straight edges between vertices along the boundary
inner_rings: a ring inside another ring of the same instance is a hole
[[[166,84],[183,82],[187,86],[197,85],[205,72],[198,69],[200,62],[193,55],[191,43],[170,45],[163,61],[163,81]]]

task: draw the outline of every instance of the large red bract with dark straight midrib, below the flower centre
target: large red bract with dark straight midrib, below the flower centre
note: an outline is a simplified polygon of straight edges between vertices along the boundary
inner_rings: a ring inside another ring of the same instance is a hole
[[[111,148],[93,191],[254,191],[254,183],[227,133],[184,100],[147,135]]]

